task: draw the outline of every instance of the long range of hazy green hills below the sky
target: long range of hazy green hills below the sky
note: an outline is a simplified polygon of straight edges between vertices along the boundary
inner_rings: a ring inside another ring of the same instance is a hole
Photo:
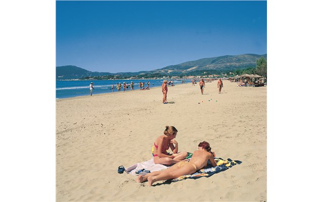
[[[267,54],[243,54],[237,56],[220,56],[213,58],[203,58],[195,61],[189,61],[178,65],[171,65],[161,69],[152,71],[140,72],[91,72],[76,66],[60,66],[56,67],[56,79],[79,79],[82,77],[106,76],[106,75],[123,75],[123,76],[137,76],[140,74],[151,75],[196,75],[197,72],[224,72],[235,69],[244,69],[248,67],[256,67],[256,60],[259,58],[267,59]]]

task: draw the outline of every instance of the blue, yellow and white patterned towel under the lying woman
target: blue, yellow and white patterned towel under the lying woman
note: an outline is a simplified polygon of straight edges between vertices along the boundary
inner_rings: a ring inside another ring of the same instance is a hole
[[[208,164],[207,164],[207,166],[205,168],[196,171],[196,173],[193,173],[191,175],[183,175],[181,177],[175,178],[175,179],[170,180],[170,181],[177,182],[177,181],[184,180],[184,179],[187,179],[187,178],[198,179],[200,177],[210,177],[213,174],[225,171],[225,170],[231,168],[234,165],[242,163],[241,161],[237,161],[237,160],[232,161],[231,159],[223,160],[221,158],[214,158],[214,160],[217,162],[218,166],[212,167],[210,165],[210,163],[208,162]]]

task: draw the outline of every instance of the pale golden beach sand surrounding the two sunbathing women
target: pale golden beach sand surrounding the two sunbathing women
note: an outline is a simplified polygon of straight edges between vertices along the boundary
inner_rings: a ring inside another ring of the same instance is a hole
[[[56,100],[57,201],[267,201],[266,87],[224,81]],[[95,86],[94,86],[95,87]],[[200,103],[200,104],[198,104]],[[118,174],[151,159],[151,146],[166,125],[178,130],[179,150],[210,143],[218,158],[242,164],[199,179],[135,182]]]

